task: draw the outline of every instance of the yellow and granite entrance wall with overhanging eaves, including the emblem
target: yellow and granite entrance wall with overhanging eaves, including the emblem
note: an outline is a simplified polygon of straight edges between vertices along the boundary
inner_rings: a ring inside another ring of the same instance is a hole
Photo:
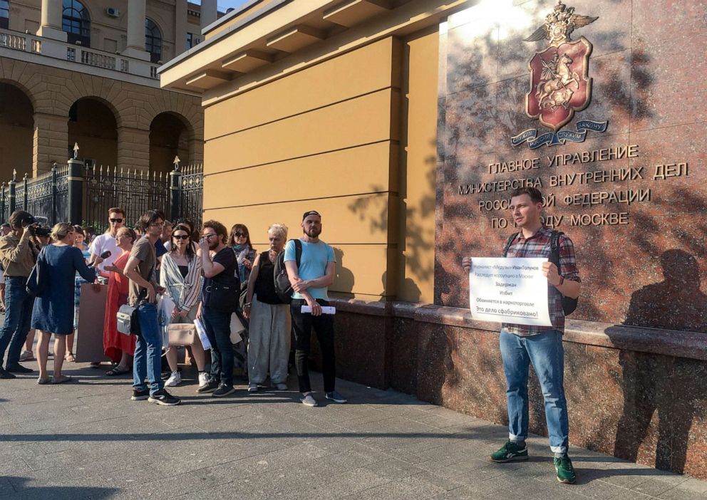
[[[461,259],[498,256],[510,190],[540,187],[583,280],[571,442],[704,478],[703,3],[568,4],[251,1],[161,82],[202,94],[206,218],[262,248],[323,215],[339,375],[494,422],[499,325],[471,316]]]

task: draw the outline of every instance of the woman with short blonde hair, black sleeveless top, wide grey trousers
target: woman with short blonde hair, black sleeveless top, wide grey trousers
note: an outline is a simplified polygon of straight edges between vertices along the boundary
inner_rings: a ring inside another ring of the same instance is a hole
[[[289,304],[275,293],[274,263],[284,251],[287,226],[272,224],[267,230],[270,249],[255,258],[248,279],[243,315],[250,321],[248,344],[248,392],[257,392],[270,374],[270,385],[287,390],[289,360]]]

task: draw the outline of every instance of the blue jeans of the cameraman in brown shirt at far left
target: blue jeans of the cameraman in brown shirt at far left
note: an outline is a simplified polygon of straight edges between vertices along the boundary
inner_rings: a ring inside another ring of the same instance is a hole
[[[27,278],[8,276],[5,279],[5,323],[0,330],[0,365],[5,350],[7,350],[6,366],[19,363],[22,345],[27,340],[34,297],[27,293],[26,283]]]

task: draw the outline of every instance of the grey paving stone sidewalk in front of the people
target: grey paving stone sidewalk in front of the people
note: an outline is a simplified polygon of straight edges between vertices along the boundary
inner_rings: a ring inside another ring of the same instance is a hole
[[[292,390],[197,395],[185,368],[182,405],[160,407],[107,366],[66,368],[78,382],[0,381],[0,500],[707,498],[705,481],[577,448],[578,484],[559,484],[542,437],[528,462],[493,464],[505,427],[343,380],[349,404],[319,387],[309,408]]]

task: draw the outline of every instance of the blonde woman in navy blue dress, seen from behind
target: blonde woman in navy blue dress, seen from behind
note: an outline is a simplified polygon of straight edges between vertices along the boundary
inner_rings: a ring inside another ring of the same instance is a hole
[[[73,246],[76,230],[71,224],[60,222],[51,230],[53,243],[45,246],[38,259],[42,259],[41,272],[46,283],[51,283],[41,291],[34,301],[32,328],[39,330],[37,360],[39,365],[38,384],[61,384],[71,377],[61,374],[66,352],[66,335],[73,333],[74,279],[76,272],[93,283],[96,271],[86,266],[81,250]],[[49,340],[54,338],[54,373],[51,379],[46,372],[49,357]]]

